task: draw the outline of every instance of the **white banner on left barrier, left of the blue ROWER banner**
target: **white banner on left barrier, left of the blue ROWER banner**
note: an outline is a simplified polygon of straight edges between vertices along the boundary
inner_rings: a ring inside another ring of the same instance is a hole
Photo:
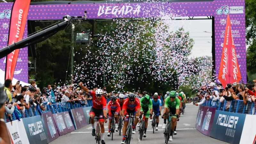
[[[11,122],[6,123],[6,126],[9,130],[9,135],[12,140],[12,144],[20,144],[20,143],[26,143],[29,144],[28,136],[25,130],[25,127],[23,125],[22,119],[20,121],[15,120]]]

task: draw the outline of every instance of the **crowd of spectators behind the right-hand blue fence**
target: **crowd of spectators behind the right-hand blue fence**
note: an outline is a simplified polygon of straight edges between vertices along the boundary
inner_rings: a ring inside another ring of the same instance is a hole
[[[221,106],[225,111],[228,111],[233,106],[233,108],[238,108],[238,112],[240,113],[244,111],[244,106],[246,106],[245,113],[249,114],[251,113],[250,106],[252,107],[252,103],[254,103],[256,99],[255,91],[256,80],[254,80],[254,84],[244,84],[242,81],[241,83],[227,84],[225,88],[223,88],[222,84],[216,85],[212,82],[200,87],[196,98],[193,99],[193,104],[196,106]],[[240,104],[238,101],[240,101]],[[235,112],[234,110],[235,109],[230,109],[229,111]],[[254,108],[252,114],[256,114]]]

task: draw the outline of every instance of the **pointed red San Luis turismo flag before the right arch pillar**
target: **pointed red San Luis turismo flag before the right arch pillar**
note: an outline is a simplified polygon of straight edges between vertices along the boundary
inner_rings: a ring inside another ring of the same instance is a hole
[[[228,15],[218,79],[223,87],[226,87],[229,83],[239,82],[241,78],[236,58],[236,48],[231,31],[230,18]]]

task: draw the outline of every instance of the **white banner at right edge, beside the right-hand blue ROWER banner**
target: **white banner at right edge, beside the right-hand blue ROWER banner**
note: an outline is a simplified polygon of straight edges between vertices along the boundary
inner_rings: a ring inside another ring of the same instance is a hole
[[[254,144],[256,139],[256,121],[255,115],[246,115],[244,128],[240,139],[240,144]]]

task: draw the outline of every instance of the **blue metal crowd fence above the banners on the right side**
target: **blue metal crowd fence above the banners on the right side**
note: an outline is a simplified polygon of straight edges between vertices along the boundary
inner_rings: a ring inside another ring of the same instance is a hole
[[[232,100],[232,101],[224,100],[223,102],[220,102],[220,100],[212,101],[210,99],[210,100],[205,100],[203,105],[217,108],[217,110],[220,110],[220,111],[240,113],[240,114],[250,114],[250,115],[255,114],[255,103],[249,102],[249,101],[247,102],[246,105],[244,105],[243,100]]]

